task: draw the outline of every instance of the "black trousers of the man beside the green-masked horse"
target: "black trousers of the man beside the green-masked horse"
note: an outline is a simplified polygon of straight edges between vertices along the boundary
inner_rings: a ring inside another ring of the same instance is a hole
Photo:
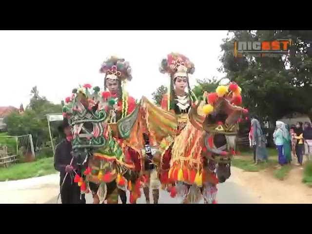
[[[85,204],[85,195],[80,199],[80,187],[77,183],[64,183],[60,188],[62,204]]]

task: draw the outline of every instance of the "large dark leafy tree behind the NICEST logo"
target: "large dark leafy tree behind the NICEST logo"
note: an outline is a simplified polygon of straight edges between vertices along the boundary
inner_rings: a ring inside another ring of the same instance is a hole
[[[307,39],[312,31],[293,30],[230,30],[233,36],[223,40],[220,71],[243,89],[243,102],[250,112],[271,120],[292,112],[310,114],[311,55],[307,54]],[[293,46],[280,58],[254,58],[246,55],[234,58],[234,41],[292,39]]]

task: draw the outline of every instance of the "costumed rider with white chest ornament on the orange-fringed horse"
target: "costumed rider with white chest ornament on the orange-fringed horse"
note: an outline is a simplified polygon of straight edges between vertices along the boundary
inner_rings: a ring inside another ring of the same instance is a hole
[[[181,132],[186,126],[188,112],[197,100],[189,83],[189,74],[195,72],[194,63],[184,55],[171,53],[161,61],[159,71],[162,74],[169,74],[170,77],[170,87],[168,88],[168,93],[162,98],[161,107],[177,115],[178,132]],[[162,188],[167,188],[167,191],[171,192],[171,196],[175,197],[176,190],[172,189],[175,188],[172,186],[175,185],[175,182],[168,178],[171,157],[172,145],[165,151],[161,158],[161,173],[159,178]]]

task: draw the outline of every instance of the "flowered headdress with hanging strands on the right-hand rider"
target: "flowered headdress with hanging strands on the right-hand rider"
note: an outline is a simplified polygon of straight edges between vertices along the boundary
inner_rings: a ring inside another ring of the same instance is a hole
[[[188,82],[188,89],[189,94],[192,101],[196,100],[196,96],[192,92],[189,84],[189,74],[193,74],[195,72],[194,63],[190,61],[186,56],[178,54],[178,53],[171,53],[167,55],[167,58],[162,59],[159,71],[162,74],[169,74],[170,75],[170,87],[168,88],[168,110],[174,109],[173,106],[173,99],[174,95],[174,80],[177,77],[186,77]]]

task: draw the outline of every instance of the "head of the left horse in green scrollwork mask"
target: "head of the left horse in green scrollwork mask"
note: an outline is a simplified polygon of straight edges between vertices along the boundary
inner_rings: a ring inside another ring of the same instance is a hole
[[[72,128],[73,156],[79,165],[86,165],[88,155],[108,144],[107,118],[112,104],[101,97],[100,88],[85,84],[74,89],[66,98],[63,116],[67,117]]]

